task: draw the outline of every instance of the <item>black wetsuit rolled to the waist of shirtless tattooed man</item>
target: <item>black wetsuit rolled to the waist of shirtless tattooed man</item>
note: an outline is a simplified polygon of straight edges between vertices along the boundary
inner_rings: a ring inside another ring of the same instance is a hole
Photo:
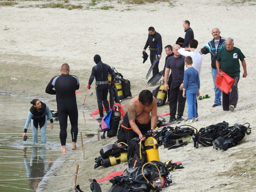
[[[136,125],[138,126],[138,128],[141,131],[142,135],[145,135],[148,131],[151,130],[151,121],[149,120],[147,124],[140,124],[135,120]],[[121,126],[125,129],[125,134],[126,134],[126,139],[127,139],[127,145],[128,145],[128,149],[131,146],[130,141],[134,138],[134,137],[138,137],[137,133],[135,133],[131,126],[130,126],[130,122],[128,119],[128,114],[127,112],[124,115],[123,118],[123,122],[121,124]]]

